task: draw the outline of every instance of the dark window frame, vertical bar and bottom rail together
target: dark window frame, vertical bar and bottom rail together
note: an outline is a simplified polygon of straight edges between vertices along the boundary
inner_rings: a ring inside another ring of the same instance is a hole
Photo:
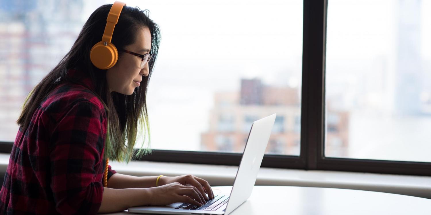
[[[325,157],[325,49],[328,0],[303,1],[300,156],[265,154],[262,167],[431,176],[431,163]],[[10,153],[13,142],[0,142]],[[242,154],[153,150],[141,160],[238,166]]]

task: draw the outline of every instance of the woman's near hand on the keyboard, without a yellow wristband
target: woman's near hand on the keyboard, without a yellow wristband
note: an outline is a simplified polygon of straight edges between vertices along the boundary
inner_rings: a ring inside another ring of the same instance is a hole
[[[196,187],[186,186],[179,182],[147,189],[150,190],[150,205],[166,206],[177,202],[189,203],[196,206],[203,206],[205,204],[202,194],[200,194]]]

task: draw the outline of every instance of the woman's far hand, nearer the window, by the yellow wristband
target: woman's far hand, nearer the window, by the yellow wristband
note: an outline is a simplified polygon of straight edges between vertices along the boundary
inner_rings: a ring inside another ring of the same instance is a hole
[[[180,175],[180,176],[162,176],[159,178],[159,183],[170,184],[174,182],[179,182],[182,185],[191,185],[199,190],[200,194],[203,196],[204,200],[209,200],[214,198],[214,193],[212,192],[211,186],[209,186],[208,181],[203,180],[202,178],[198,178],[194,175]],[[206,197],[205,194],[208,194]]]

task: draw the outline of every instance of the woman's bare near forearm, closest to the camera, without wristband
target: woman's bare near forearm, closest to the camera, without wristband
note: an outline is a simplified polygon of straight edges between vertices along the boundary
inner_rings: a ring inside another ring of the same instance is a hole
[[[116,175],[116,174],[114,174]],[[151,188],[103,188],[102,204],[98,213],[121,212],[134,206],[150,205]]]

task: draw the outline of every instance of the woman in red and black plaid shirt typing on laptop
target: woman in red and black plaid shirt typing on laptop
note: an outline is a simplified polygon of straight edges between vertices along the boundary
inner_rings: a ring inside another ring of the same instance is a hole
[[[193,175],[134,177],[108,165],[108,158],[131,160],[137,131],[143,130],[138,122],[150,137],[146,93],[160,39],[147,11],[122,6],[111,41],[118,61],[97,68],[90,53],[111,6],[91,14],[72,49],[24,102],[0,191],[2,214],[95,214],[175,202],[200,206],[214,197],[208,182]],[[141,146],[137,157],[149,147]]]

